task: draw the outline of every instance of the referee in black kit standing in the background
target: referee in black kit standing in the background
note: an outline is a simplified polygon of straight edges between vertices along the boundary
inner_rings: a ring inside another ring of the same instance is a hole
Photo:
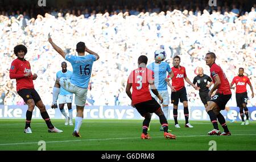
[[[208,106],[208,102],[210,101],[210,97],[208,95],[209,88],[213,84],[212,79],[204,74],[203,68],[198,68],[198,75],[194,78],[193,84],[197,84],[199,87],[199,96],[201,101],[204,103],[204,107]],[[210,82],[210,84],[208,84]]]

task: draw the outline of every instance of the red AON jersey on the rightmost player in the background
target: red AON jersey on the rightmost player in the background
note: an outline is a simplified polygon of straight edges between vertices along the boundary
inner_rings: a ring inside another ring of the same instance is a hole
[[[251,84],[250,80],[246,76],[236,76],[233,78],[231,84],[236,83],[236,93],[247,92],[246,85]]]

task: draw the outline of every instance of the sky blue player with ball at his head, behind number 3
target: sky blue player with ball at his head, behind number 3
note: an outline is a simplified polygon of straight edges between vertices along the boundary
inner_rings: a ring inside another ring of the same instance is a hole
[[[167,73],[170,75],[170,78],[174,76],[174,73],[171,70],[171,67],[168,63],[163,61],[155,60],[154,63],[151,63],[147,66],[148,69],[154,72],[155,77],[155,86],[159,94],[163,97],[162,109],[164,116],[168,119],[168,105],[169,105],[169,94],[167,90],[167,84],[171,87],[172,91],[175,89],[171,86],[169,82],[166,82]],[[158,98],[150,91],[152,97],[158,101]],[[159,102],[160,103],[160,102]],[[163,131],[163,127],[160,128],[160,131]]]

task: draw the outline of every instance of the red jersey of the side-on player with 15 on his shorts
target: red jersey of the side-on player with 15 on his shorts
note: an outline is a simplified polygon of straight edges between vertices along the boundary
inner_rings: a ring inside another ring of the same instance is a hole
[[[225,73],[220,66],[218,66],[216,63],[213,63],[210,67],[210,77],[212,78],[213,83],[215,83],[214,77],[217,75],[220,77],[221,81],[221,84],[218,86],[217,93],[231,94],[229,81],[226,78]]]

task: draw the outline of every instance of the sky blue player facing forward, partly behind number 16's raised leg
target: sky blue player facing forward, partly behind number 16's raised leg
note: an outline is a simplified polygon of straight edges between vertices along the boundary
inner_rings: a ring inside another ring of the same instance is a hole
[[[67,70],[67,63],[64,61],[61,63],[61,68],[59,72],[56,73],[56,78],[68,78],[71,79],[72,77],[72,72]],[[57,99],[59,98],[59,107],[60,107],[60,112],[61,114],[64,115],[65,117],[65,126],[68,124],[70,126],[73,126],[72,122],[72,117],[73,117],[73,111],[72,111],[72,100],[73,100],[73,93],[68,92],[65,90],[62,86],[60,88],[53,87],[53,92],[52,92],[52,108],[57,108]],[[67,103],[68,105],[68,114],[69,116],[65,113],[64,110],[64,105]]]

